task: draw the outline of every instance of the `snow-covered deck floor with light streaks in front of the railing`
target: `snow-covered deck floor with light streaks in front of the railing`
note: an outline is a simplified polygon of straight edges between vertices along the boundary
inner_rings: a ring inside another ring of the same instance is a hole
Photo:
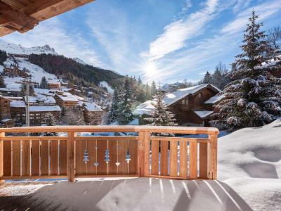
[[[3,187],[3,186],[2,186]],[[251,210],[221,181],[96,179],[56,184],[9,184],[0,210]]]

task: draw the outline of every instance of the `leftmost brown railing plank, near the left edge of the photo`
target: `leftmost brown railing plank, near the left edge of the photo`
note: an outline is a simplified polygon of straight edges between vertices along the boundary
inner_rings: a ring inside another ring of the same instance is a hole
[[[11,141],[3,142],[3,175],[12,175],[12,144]]]

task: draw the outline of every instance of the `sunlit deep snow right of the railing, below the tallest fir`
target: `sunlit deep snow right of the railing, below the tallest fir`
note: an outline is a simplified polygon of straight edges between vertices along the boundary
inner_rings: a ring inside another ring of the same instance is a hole
[[[281,210],[281,120],[218,139],[218,179],[253,210]]]

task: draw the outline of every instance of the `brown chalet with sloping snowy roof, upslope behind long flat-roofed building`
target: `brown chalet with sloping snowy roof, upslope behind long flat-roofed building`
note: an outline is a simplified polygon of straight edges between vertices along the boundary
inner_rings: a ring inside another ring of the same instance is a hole
[[[78,106],[79,102],[72,94],[63,91],[56,91],[54,98],[55,103],[60,106],[60,108],[73,108],[74,106]]]

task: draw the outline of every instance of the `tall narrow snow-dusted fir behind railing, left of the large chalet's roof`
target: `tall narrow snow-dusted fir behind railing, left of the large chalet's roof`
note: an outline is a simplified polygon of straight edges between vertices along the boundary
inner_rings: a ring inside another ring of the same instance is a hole
[[[129,77],[124,78],[124,87],[119,91],[118,117],[119,124],[128,124],[133,120],[132,103],[132,84]]]

